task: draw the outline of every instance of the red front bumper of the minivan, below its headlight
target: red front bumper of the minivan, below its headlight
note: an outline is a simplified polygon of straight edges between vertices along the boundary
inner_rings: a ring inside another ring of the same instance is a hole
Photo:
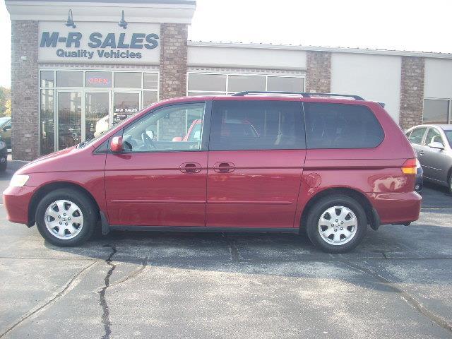
[[[3,201],[9,221],[29,225],[28,206],[37,189],[38,187],[34,186],[8,186],[3,192]]]

